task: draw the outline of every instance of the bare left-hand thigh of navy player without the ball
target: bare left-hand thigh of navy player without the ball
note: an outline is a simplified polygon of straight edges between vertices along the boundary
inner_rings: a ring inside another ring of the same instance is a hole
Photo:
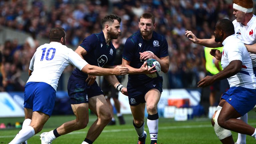
[[[86,120],[89,121],[89,108],[88,103],[71,104],[71,108],[78,121]]]

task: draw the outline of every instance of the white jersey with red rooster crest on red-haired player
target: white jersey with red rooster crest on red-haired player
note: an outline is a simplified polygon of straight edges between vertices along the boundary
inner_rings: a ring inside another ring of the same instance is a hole
[[[235,33],[244,44],[252,45],[256,43],[256,16],[253,15],[251,20],[247,23],[247,26],[237,22],[236,19],[233,21],[235,27]],[[256,67],[256,54],[249,53],[252,59],[253,67]]]

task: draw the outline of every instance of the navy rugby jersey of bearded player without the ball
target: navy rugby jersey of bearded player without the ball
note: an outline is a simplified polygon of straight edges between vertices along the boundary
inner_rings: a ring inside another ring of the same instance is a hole
[[[79,46],[87,51],[87,54],[83,58],[90,65],[103,67],[106,64],[114,66],[116,49],[111,41],[107,45],[103,31],[86,37]],[[88,77],[87,74],[77,68],[73,71],[73,75],[81,79],[87,79]]]

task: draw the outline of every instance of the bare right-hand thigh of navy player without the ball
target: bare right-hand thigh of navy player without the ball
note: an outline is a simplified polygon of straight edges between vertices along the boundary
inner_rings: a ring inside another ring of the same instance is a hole
[[[111,115],[108,103],[102,94],[89,98],[89,108],[98,117],[101,115]]]

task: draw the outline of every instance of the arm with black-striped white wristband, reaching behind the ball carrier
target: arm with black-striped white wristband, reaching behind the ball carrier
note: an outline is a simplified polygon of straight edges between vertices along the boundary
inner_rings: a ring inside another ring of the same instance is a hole
[[[105,66],[106,68],[114,68],[114,66]],[[116,78],[115,75],[106,75],[104,76],[105,79],[112,85],[114,86],[118,91],[122,92],[122,94],[127,95],[127,88],[125,88]]]

